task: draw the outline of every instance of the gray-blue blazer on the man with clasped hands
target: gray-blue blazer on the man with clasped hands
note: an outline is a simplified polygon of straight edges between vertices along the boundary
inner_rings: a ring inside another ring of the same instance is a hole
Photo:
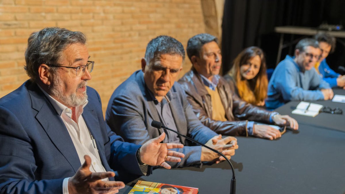
[[[201,124],[195,116],[184,90],[178,83],[170,89],[167,96],[170,99],[170,109],[175,119],[177,131],[194,138],[200,143],[206,143],[213,136],[214,131]],[[160,121],[154,99],[144,82],[144,73],[141,70],[134,72],[122,83],[110,97],[106,122],[125,141],[135,144],[144,144],[151,138],[158,137],[163,130],[151,127],[152,120]],[[184,167],[201,164],[201,147],[194,145],[184,137],[179,137],[185,145],[183,149],[177,149],[185,154],[185,158],[179,163],[169,163],[172,167]],[[169,142],[169,140],[168,140]]]

